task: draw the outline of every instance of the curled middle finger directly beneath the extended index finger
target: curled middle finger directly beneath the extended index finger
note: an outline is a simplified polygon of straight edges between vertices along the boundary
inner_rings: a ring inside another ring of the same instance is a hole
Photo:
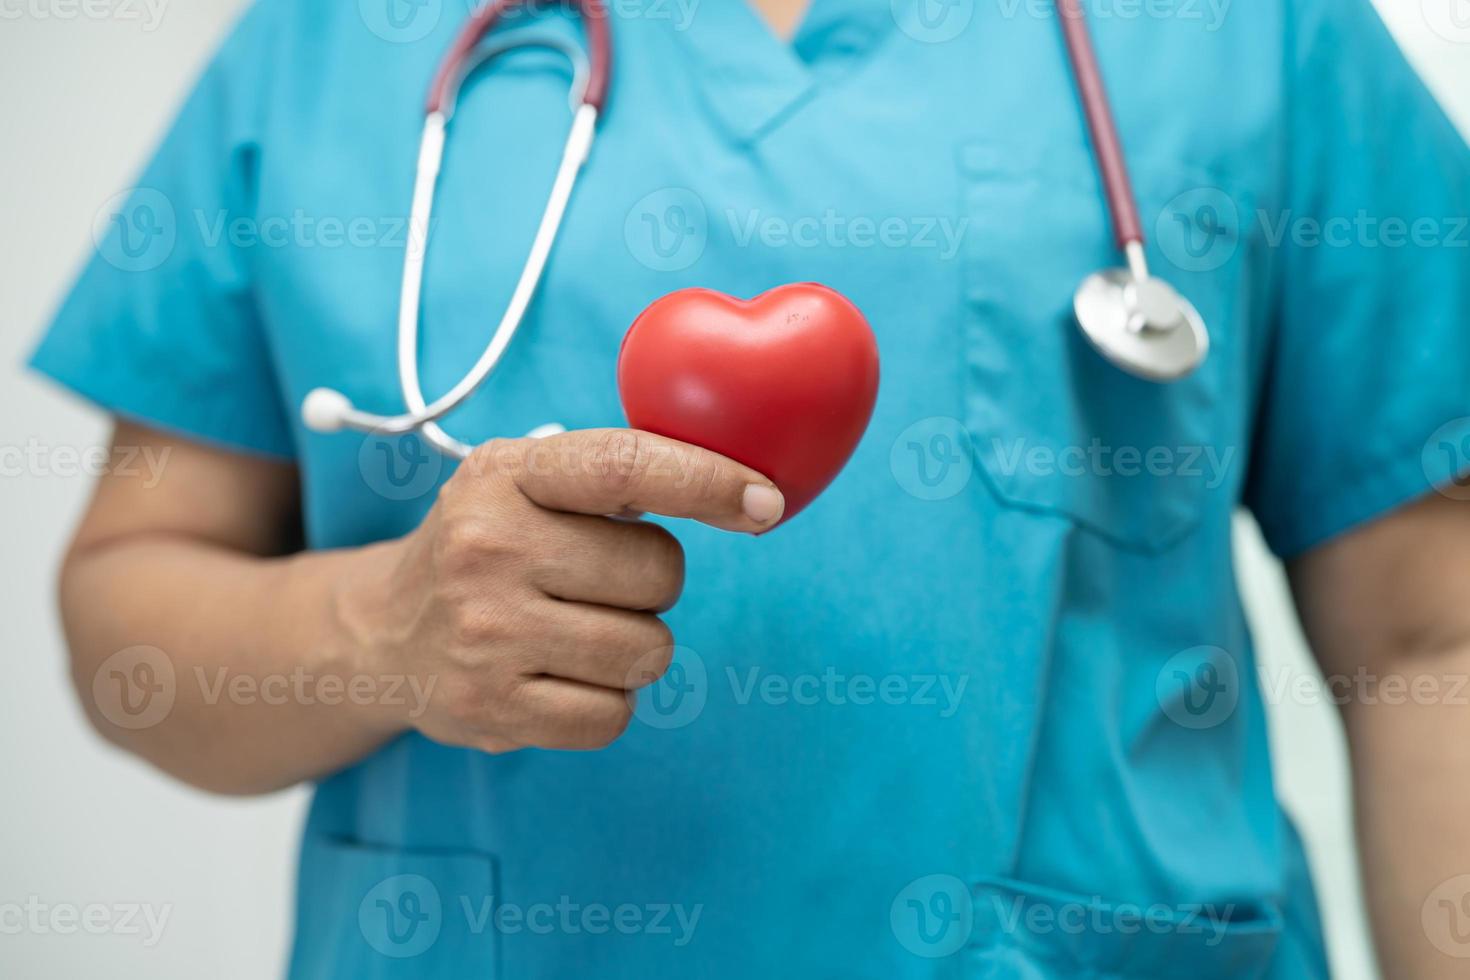
[[[637,520],[551,514],[557,530],[531,579],[547,595],[625,610],[670,608],[684,589],[684,548]]]

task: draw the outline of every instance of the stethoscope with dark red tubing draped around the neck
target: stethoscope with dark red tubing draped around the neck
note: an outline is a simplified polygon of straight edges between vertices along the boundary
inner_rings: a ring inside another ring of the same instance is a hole
[[[612,43],[603,0],[575,0],[573,4],[587,32],[585,56],[570,41],[520,32],[482,44],[501,16],[523,3],[525,0],[492,0],[479,7],[444,54],[429,87],[398,292],[398,385],[407,411],[373,414],[357,408],[334,388],[316,388],[301,403],[301,419],[315,432],[338,432],[344,428],[381,435],[419,432],[431,445],[457,458],[465,458],[473,448],[444,432],[438,420],[485,383],[525,319],[556,244],[576,178],[591,153],[597,120],[612,81]],[[1080,0],[1055,0],[1055,4],[1107,192],[1114,242],[1127,260],[1126,267],[1104,269],[1083,279],[1073,297],[1078,323],[1092,345],[1125,372],[1150,381],[1175,381],[1200,366],[1208,353],[1210,335],[1194,306],[1148,270],[1138,204]],[[472,72],[500,54],[526,47],[547,48],[567,59],[572,68],[572,128],[541,223],[495,332],[473,367],[429,403],[419,379],[419,300],[423,291],[429,215],[434,210],[448,122],[460,88]],[[547,425],[528,435],[559,430],[562,426]]]

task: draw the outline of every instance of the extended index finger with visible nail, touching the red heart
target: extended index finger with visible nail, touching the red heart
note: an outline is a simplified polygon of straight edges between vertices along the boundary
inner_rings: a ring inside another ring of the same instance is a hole
[[[748,466],[650,432],[582,429],[519,445],[512,478],[548,510],[641,510],[757,533],[775,526],[785,507],[781,491]]]

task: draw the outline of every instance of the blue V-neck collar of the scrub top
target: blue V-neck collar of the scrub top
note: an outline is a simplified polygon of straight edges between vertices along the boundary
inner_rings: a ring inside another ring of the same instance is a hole
[[[754,143],[875,47],[888,18],[886,3],[811,0],[785,41],[748,0],[704,0],[681,34],[710,112],[736,143]]]

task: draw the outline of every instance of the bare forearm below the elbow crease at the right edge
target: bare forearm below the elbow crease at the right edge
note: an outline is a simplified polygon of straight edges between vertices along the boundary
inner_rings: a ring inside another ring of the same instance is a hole
[[[1376,689],[1344,708],[1379,959],[1385,977],[1463,977],[1461,956],[1470,955],[1470,646],[1385,670]]]

